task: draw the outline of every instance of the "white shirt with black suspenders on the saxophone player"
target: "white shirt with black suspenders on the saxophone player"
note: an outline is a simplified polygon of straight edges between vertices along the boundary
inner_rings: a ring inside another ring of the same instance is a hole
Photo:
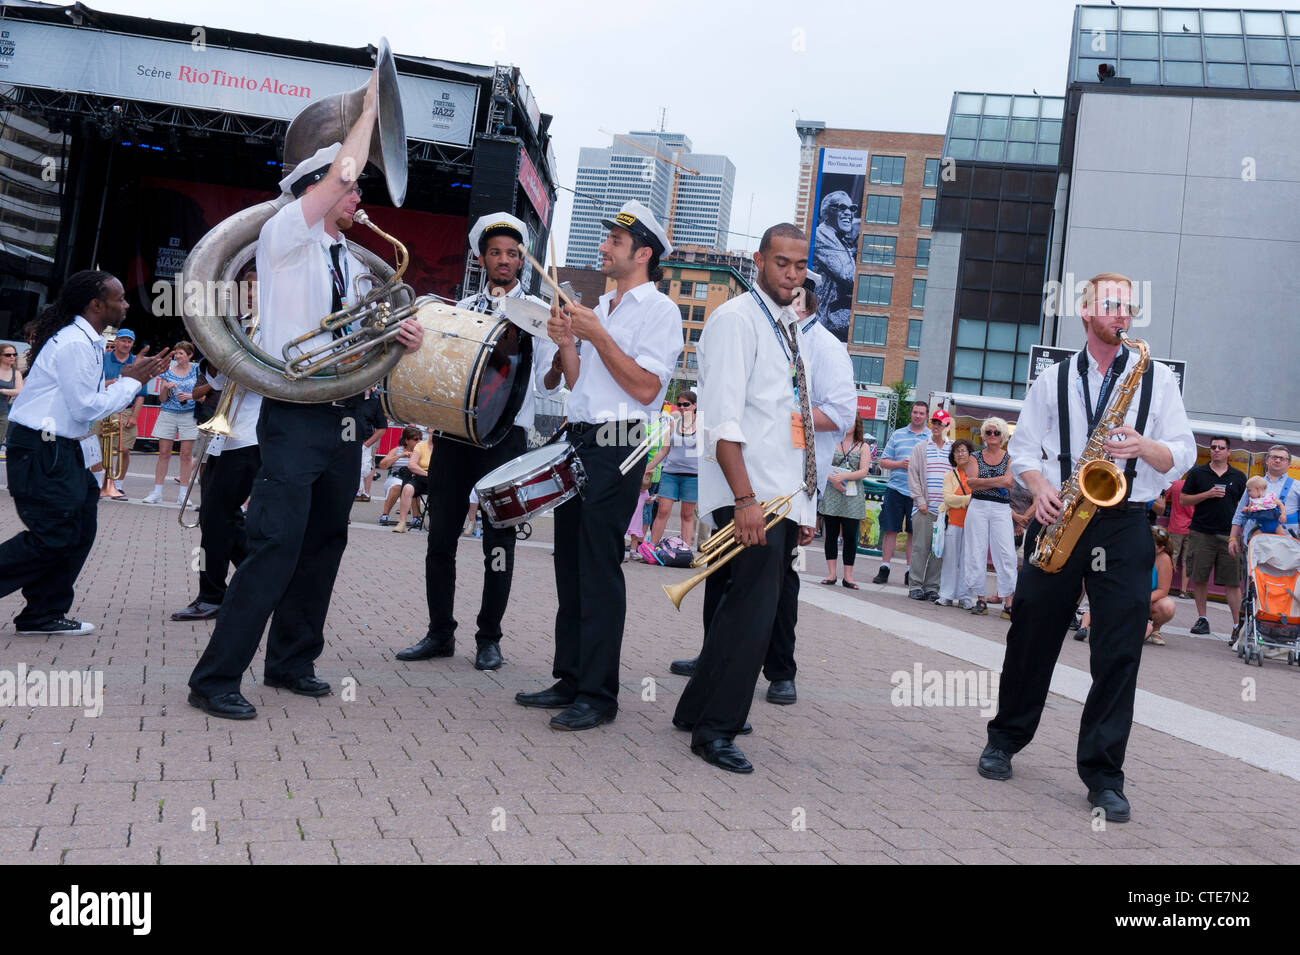
[[[1088,442],[1088,416],[1084,412],[1083,379],[1079,377],[1078,352],[1069,359],[1069,387],[1067,398],[1070,404],[1070,466],[1078,465],[1079,455],[1083,453]],[[1136,353],[1128,356],[1128,364],[1121,373],[1110,392],[1106,407],[1114,404],[1118,396],[1119,383],[1123,376],[1132,369]],[[1196,464],[1196,440],[1192,438],[1192,427],[1187,422],[1187,412],[1183,409],[1183,396],[1178,391],[1174,373],[1169,366],[1152,361],[1154,373],[1152,377],[1150,412],[1147,417],[1144,438],[1157,440],[1170,450],[1174,456],[1174,465],[1167,472],[1158,472],[1145,461],[1138,461],[1138,470],[1134,474],[1132,492],[1128,500],[1150,502],[1179,478],[1188,468]],[[1061,463],[1057,455],[1061,451],[1061,429],[1057,414],[1057,368],[1034,379],[1030,392],[1024,396],[1024,405],[1020,408],[1020,417],[1015,422],[1015,434],[1008,452],[1011,455],[1011,474],[1017,481],[1024,483],[1020,476],[1030,470],[1039,470],[1043,477],[1057,490],[1061,489]],[[1097,400],[1102,383],[1101,368],[1097,360],[1088,353],[1088,391],[1092,400]],[[1128,403],[1128,412],[1124,414],[1124,424],[1135,426],[1138,421],[1138,404],[1141,399],[1141,385]],[[1046,460],[1043,453],[1046,453]],[[1121,470],[1124,470],[1127,461],[1115,461]],[[1027,487],[1028,485],[1026,485]]]

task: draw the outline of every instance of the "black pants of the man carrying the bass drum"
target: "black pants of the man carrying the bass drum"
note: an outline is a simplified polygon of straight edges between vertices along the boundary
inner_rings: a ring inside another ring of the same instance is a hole
[[[519,457],[528,450],[524,429],[511,427],[490,448],[478,448],[450,438],[433,444],[429,474],[429,551],[424,559],[424,587],[429,600],[428,637],[448,643],[456,635],[452,609],[456,599],[456,543],[465,525],[469,491],[482,477]],[[474,639],[490,643],[500,639],[500,621],[510,602],[515,574],[515,529],[494,528],[484,517],[484,592],[478,605]]]

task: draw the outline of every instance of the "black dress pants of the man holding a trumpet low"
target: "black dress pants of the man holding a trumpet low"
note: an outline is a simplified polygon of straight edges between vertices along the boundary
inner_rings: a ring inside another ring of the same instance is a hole
[[[733,508],[714,512],[714,526]],[[745,725],[754,685],[772,638],[783,573],[798,541],[798,525],[780,521],[762,547],[746,547],[705,581],[705,646],[673,719],[693,726],[692,745],[732,739]]]

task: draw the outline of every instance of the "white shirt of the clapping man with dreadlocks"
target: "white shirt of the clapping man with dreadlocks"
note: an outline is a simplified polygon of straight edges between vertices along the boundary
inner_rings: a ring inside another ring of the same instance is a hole
[[[46,342],[9,407],[9,420],[34,431],[81,440],[100,418],[126,409],[140,383],[122,376],[104,385],[104,338],[77,316]]]

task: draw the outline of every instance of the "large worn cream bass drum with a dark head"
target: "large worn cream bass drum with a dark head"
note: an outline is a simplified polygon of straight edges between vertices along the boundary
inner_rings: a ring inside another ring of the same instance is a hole
[[[432,296],[416,304],[424,346],[384,379],[384,413],[399,424],[491,447],[515,424],[532,387],[532,338],[508,321]]]

